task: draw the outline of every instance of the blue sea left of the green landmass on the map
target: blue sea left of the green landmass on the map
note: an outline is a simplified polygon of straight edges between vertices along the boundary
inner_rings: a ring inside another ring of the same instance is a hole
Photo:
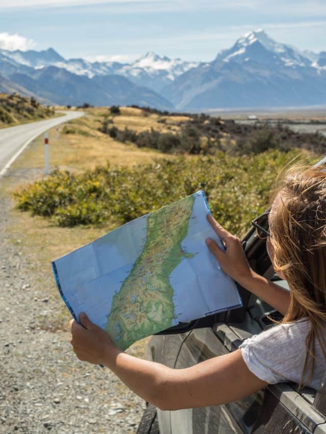
[[[84,311],[104,328],[113,297],[143,250],[146,220],[132,220],[53,262],[63,299],[76,320]]]

